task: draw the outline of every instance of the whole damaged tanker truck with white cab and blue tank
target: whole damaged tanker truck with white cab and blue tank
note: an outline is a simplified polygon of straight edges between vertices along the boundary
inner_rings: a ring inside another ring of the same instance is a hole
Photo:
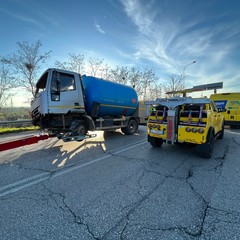
[[[135,90],[123,84],[50,68],[31,102],[32,122],[64,141],[94,137],[89,131],[121,129],[132,135],[147,114]]]

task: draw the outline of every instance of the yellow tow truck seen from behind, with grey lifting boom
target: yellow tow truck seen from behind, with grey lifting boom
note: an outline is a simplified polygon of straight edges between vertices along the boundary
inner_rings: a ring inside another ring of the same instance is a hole
[[[224,118],[211,99],[172,98],[145,102],[154,106],[148,118],[148,142],[153,147],[191,143],[199,155],[211,158],[213,143],[224,136]]]

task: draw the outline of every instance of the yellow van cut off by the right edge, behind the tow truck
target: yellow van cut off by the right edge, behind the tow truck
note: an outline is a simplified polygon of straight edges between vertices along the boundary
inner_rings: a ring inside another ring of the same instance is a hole
[[[225,125],[240,127],[240,92],[212,94],[210,99],[221,109]]]

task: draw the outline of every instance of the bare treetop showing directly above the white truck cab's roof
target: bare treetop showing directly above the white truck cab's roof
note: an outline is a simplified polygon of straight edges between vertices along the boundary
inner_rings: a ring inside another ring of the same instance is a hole
[[[85,57],[83,54],[69,53],[69,59],[65,62],[56,61],[57,68],[83,74],[85,70]]]

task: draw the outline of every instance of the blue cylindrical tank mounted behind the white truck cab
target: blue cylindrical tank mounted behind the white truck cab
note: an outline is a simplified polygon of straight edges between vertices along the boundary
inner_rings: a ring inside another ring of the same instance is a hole
[[[94,103],[99,106],[97,117],[131,116],[138,106],[137,93],[129,86],[85,75],[82,83],[85,108],[90,116]]]

